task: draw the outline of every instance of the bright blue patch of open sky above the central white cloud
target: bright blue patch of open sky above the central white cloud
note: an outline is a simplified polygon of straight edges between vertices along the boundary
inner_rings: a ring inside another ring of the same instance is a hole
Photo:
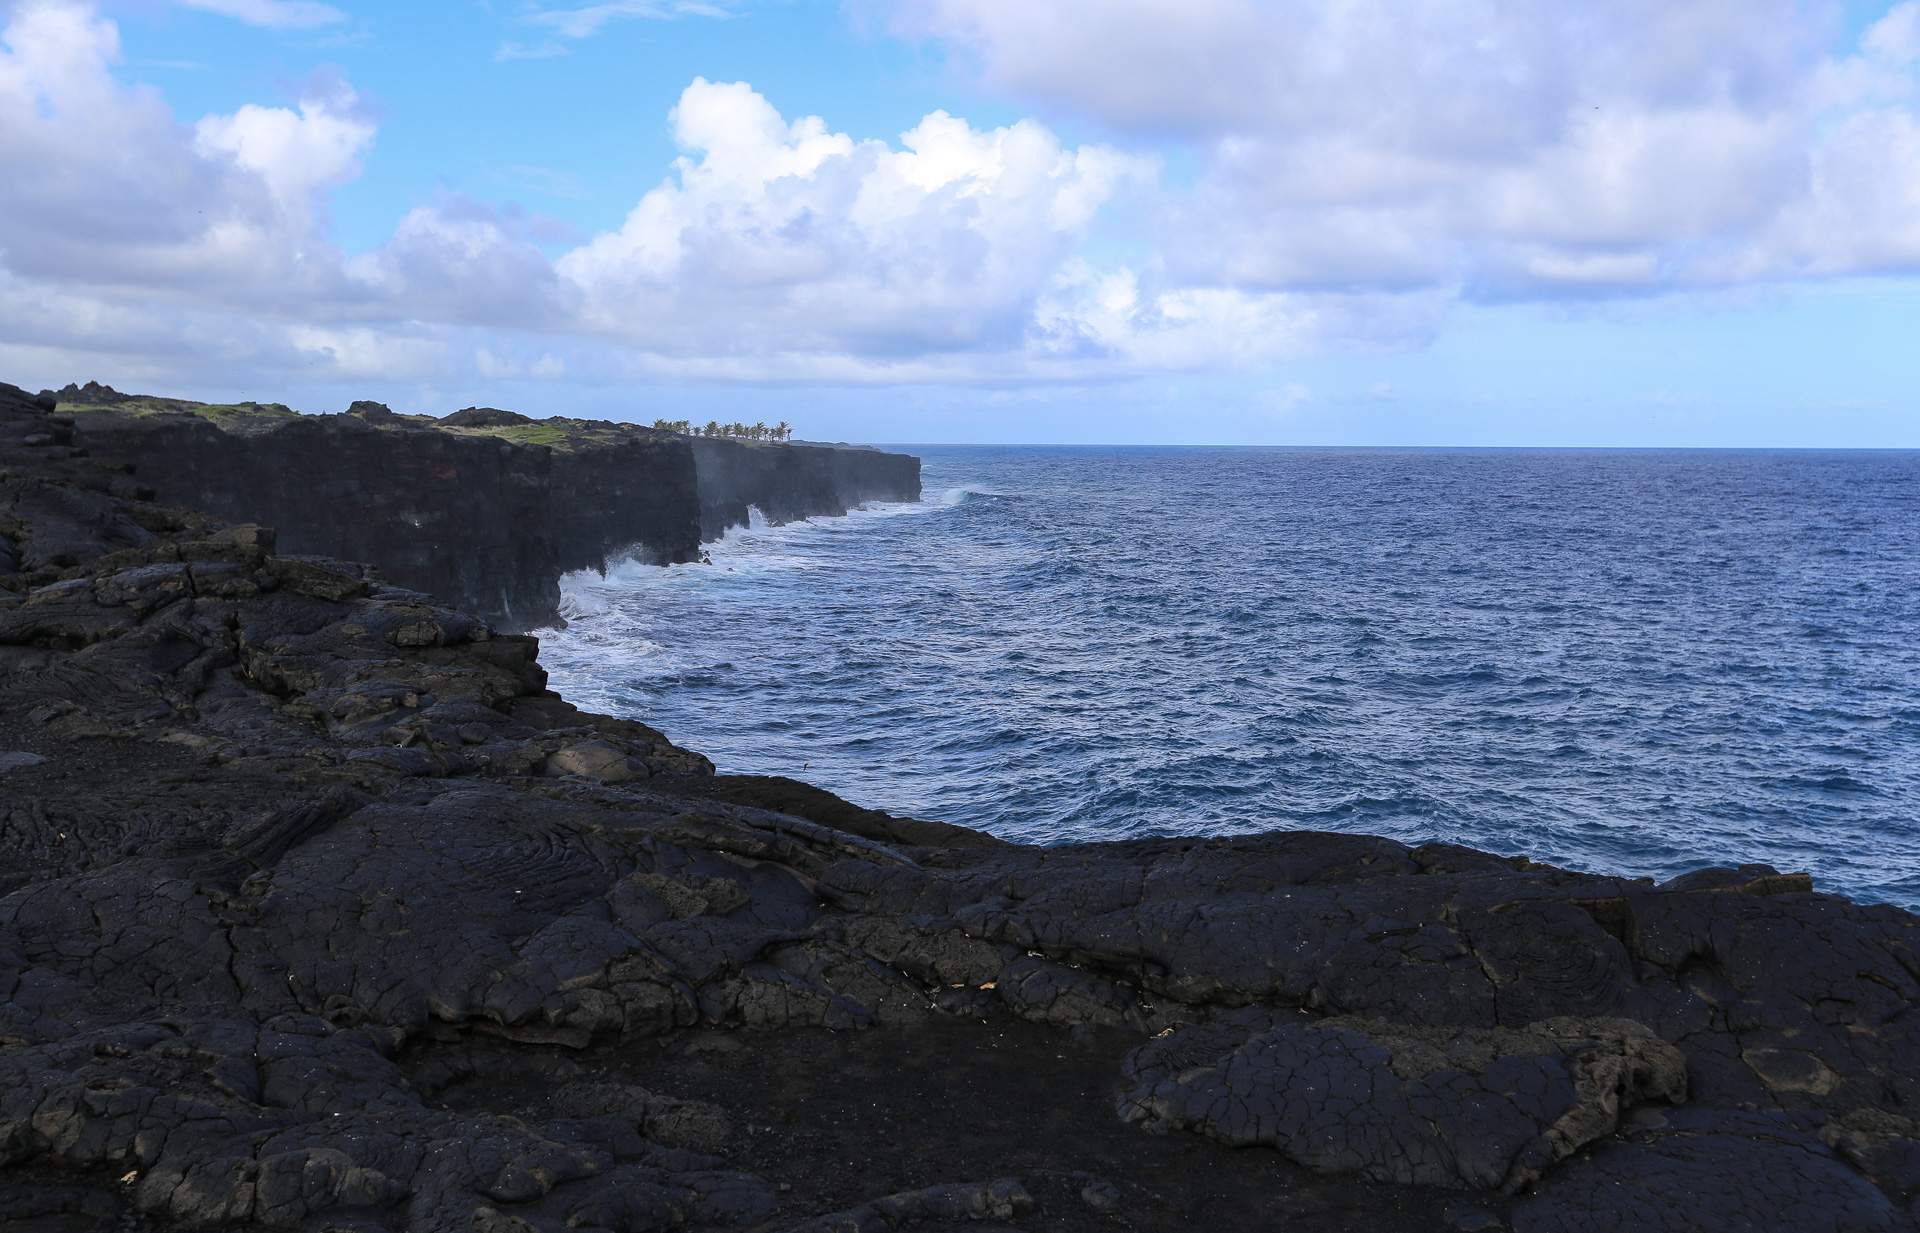
[[[382,121],[378,154],[334,192],[349,252],[378,248],[396,219],[445,190],[516,202],[588,234],[618,227],[680,156],[666,113],[695,77],[753,83],[785,113],[856,136],[893,138],[937,108],[983,127],[1023,115],[952,88],[937,54],[862,35],[820,0],[609,21],[591,38],[557,38],[511,2],[361,8],[305,31],[161,4],[102,12],[127,42],[121,77],[161,86],[182,117],[296,100],[317,67],[363,90]]]

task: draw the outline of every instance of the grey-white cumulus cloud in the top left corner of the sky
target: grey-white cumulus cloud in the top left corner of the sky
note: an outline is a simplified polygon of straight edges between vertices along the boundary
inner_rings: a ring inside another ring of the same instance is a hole
[[[179,125],[121,86],[119,36],[60,0],[15,6],[0,35],[0,252],[69,290],[217,296],[252,305],[334,294],[324,190],[359,173],[374,123],[319,77],[298,109],[246,106]]]

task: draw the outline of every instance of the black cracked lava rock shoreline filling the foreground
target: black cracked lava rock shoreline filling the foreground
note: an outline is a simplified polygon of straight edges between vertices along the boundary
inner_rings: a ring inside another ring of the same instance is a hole
[[[1899,908],[714,774],[77,428],[0,388],[8,1227],[1916,1227]]]

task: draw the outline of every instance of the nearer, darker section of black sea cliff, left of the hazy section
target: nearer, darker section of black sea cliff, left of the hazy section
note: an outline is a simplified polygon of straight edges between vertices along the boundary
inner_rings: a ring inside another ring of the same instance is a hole
[[[505,628],[553,620],[559,578],[618,553],[699,557],[693,453],[636,438],[588,459],[434,428],[301,417],[232,434],[192,415],[75,417],[102,461],[138,459],[156,497],[269,522],[280,549],[372,561]]]

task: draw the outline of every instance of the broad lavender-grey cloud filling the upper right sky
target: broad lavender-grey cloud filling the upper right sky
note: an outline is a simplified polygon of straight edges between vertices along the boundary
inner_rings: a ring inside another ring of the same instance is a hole
[[[1167,273],[1250,292],[1640,294],[1920,263],[1916,6],[902,0],[993,88],[1187,142]]]

